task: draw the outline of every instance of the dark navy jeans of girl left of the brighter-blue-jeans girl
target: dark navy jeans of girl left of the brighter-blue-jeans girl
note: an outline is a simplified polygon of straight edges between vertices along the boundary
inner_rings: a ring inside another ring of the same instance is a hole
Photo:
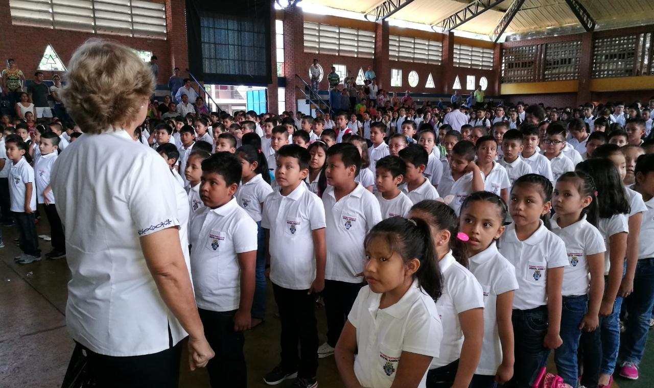
[[[530,388],[540,368],[547,363],[549,349],[543,346],[547,334],[547,306],[531,310],[513,310],[515,364],[513,378],[504,387]]]

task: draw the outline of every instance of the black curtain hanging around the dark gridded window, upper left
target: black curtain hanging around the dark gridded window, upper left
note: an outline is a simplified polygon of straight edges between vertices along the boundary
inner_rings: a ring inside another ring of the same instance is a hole
[[[209,84],[272,82],[271,0],[186,0],[188,63]]]

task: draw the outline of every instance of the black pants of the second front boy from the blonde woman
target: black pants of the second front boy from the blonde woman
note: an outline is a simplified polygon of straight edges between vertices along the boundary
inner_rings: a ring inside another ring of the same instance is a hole
[[[281,366],[286,371],[298,370],[300,378],[315,378],[318,370],[318,322],[313,312],[316,297],[307,295],[308,291],[279,287],[273,283],[282,324]]]

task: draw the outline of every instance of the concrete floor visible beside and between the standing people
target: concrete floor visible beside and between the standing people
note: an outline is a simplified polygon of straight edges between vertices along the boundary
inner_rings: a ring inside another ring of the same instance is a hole
[[[37,225],[39,234],[49,234],[45,219]],[[0,249],[0,388],[60,387],[73,351],[73,341],[65,327],[66,283],[69,271],[65,259],[42,260],[18,265],[13,258],[20,254],[12,241],[14,227],[3,227],[6,248]],[[44,253],[50,243],[40,241]],[[272,292],[269,292],[267,319],[263,325],[246,333],[245,357],[248,363],[248,386],[267,387],[263,375],[279,362],[279,319]],[[324,340],[324,312],[316,309],[318,331]],[[616,377],[614,388],[654,386],[654,341],[649,336],[640,379],[627,381]],[[186,354],[182,355],[180,387],[208,387],[205,370],[190,372]],[[552,362],[550,360],[550,366]],[[334,357],[321,359],[318,366],[320,387],[340,388]],[[290,382],[278,385],[286,387]]]

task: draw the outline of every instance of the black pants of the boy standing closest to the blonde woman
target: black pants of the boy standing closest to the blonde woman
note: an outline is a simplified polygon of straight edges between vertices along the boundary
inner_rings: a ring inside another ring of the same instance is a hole
[[[207,364],[209,382],[212,388],[247,387],[247,368],[243,344],[243,332],[234,331],[236,310],[217,312],[198,308],[205,337],[216,353]]]

